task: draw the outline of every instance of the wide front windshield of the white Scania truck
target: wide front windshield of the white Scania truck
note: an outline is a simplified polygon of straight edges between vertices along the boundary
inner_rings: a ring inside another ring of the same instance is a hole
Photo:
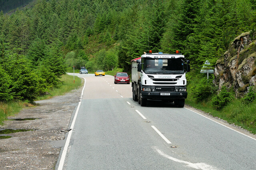
[[[144,60],[146,74],[184,74],[184,64],[181,59],[151,59]]]

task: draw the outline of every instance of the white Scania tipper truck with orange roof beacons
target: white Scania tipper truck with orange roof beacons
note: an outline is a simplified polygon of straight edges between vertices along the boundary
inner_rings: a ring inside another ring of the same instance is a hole
[[[184,107],[188,96],[186,72],[190,71],[190,61],[184,55],[179,51],[176,54],[144,52],[131,63],[134,101],[146,106],[148,99],[163,100]]]

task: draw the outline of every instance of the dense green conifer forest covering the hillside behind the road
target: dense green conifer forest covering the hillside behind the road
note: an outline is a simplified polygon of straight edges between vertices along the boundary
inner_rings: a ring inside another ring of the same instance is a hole
[[[73,66],[129,72],[149,49],[180,50],[200,70],[256,23],[256,0],[2,0],[0,7],[0,101],[33,101]]]

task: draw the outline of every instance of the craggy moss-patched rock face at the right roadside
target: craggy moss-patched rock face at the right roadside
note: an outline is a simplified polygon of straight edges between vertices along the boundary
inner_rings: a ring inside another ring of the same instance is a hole
[[[214,68],[214,83],[219,89],[222,86],[233,87],[236,97],[242,97],[249,86],[256,85],[256,40],[250,33],[236,37],[224,56]]]

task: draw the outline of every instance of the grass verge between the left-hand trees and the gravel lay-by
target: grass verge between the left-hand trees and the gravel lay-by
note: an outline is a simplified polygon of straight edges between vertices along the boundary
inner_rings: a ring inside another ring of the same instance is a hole
[[[75,83],[73,76],[63,75],[61,80],[61,86],[59,88],[53,88],[49,90],[50,95],[40,96],[36,100],[44,100],[52,98],[53,96],[60,96],[74,90],[81,86],[82,80],[75,76]],[[28,102],[12,101],[12,102],[0,102],[0,125],[3,125],[3,121],[6,120],[8,116],[15,115],[24,107],[32,107],[32,104]]]

